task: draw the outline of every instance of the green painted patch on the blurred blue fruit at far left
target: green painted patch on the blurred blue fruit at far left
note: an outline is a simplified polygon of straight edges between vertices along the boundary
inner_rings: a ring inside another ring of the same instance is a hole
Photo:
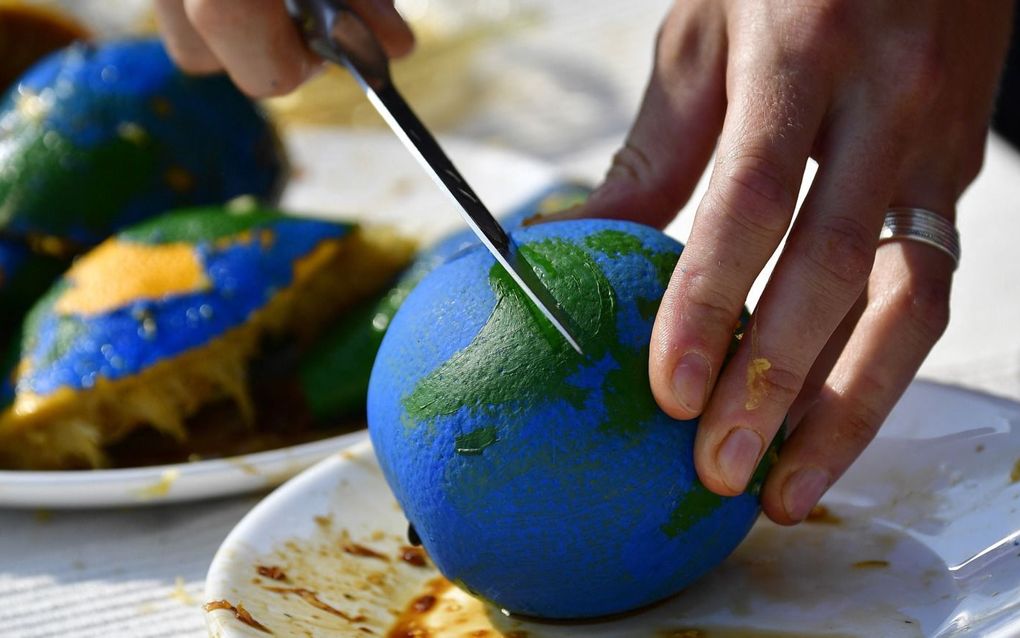
[[[145,135],[82,149],[22,117],[3,145],[10,156],[0,167],[0,228],[21,218],[57,237],[74,227],[106,235],[123,207],[160,179],[158,148]]]

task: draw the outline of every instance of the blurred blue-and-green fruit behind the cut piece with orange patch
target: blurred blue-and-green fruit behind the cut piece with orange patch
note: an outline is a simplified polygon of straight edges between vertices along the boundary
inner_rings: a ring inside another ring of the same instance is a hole
[[[158,40],[78,44],[0,101],[0,232],[80,251],[172,208],[271,201],[286,160],[225,76],[189,77]]]

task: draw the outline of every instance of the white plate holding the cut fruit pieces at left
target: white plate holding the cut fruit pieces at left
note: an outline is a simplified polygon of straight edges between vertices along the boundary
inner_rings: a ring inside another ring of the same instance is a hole
[[[427,242],[463,223],[389,132],[296,129],[287,136],[294,178],[283,207],[295,212],[396,225]],[[464,176],[502,211],[553,184],[547,164],[447,141]],[[235,458],[90,472],[0,471],[0,506],[102,507],[195,500],[275,486],[352,443],[359,432]]]

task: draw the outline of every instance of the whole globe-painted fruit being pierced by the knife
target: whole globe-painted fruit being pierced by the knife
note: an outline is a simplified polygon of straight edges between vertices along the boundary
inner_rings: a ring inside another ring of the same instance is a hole
[[[648,382],[652,322],[681,246],[579,220],[514,233],[576,322],[576,354],[482,249],[426,276],[384,339],[368,395],[384,473],[443,574],[512,612],[581,619],[670,596],[721,561],[758,491],[698,481],[695,422]]]

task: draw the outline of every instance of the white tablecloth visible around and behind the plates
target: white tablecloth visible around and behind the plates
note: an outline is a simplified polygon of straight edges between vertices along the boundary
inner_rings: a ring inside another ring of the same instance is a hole
[[[95,4],[95,3],[93,3]],[[408,3],[414,4],[414,3]],[[490,0],[493,11],[513,0]],[[533,6],[533,5],[532,5]],[[461,135],[597,180],[640,100],[666,0],[538,5],[478,53]],[[513,64],[503,61],[513,59]],[[674,226],[682,235],[690,214]],[[989,143],[960,207],[953,323],[923,377],[1020,399],[1020,156]],[[141,509],[0,509],[0,635],[201,636],[206,568],[258,495]]]

